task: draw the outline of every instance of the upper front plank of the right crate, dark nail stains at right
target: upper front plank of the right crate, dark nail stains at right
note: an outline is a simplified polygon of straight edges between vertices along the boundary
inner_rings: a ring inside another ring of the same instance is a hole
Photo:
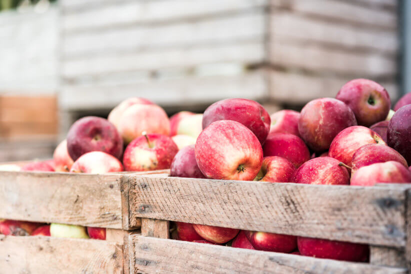
[[[132,176],[130,176],[132,177]],[[134,217],[405,246],[405,190],[139,176]]]

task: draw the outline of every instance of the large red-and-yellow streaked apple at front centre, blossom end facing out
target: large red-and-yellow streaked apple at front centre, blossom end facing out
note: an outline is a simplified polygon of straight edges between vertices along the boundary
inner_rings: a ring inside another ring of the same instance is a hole
[[[195,160],[201,173],[211,179],[251,181],[262,165],[262,148],[244,125],[215,121],[198,136]]]

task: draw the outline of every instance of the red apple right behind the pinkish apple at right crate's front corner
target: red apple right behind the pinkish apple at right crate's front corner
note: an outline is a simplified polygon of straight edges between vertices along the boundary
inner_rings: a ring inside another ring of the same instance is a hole
[[[404,167],[408,168],[408,165],[397,151],[386,145],[381,144],[368,144],[360,147],[355,151],[352,156],[351,162],[351,176],[354,172],[364,166],[369,166],[375,163],[383,163],[388,161],[397,161]]]

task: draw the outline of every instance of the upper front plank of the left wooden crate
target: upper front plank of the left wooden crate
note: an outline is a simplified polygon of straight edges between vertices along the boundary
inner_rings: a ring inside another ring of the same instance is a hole
[[[0,218],[120,229],[121,175],[0,173]]]

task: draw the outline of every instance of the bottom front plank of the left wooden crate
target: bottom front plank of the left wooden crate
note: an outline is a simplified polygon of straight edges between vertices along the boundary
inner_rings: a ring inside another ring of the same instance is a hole
[[[122,248],[107,241],[0,235],[1,273],[123,273]]]

